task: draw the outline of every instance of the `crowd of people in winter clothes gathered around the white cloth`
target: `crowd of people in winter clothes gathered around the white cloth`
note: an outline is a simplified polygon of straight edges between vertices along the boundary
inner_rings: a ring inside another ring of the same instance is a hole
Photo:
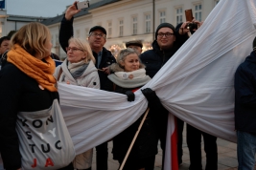
[[[20,145],[30,144],[21,141],[24,135],[32,139],[31,132],[20,134],[15,131],[16,122],[29,126],[27,119],[17,118],[18,115],[29,115],[34,118],[32,125],[38,128],[40,123],[52,122],[51,117],[57,112],[48,111],[57,107],[59,100],[58,83],[72,84],[87,88],[100,89],[108,92],[124,94],[128,102],[135,99],[134,92],[147,84],[151,78],[165,65],[186,40],[197,31],[202,22],[193,20],[198,27],[188,28],[190,21],[174,27],[170,23],[160,24],[155,31],[152,50],[142,53],[143,43],[132,40],[126,43],[127,49],[121,50],[115,58],[105,49],[105,28],[94,26],[90,29],[87,40],[73,37],[74,15],[80,12],[75,2],[65,12],[59,30],[59,43],[66,59],[57,68],[53,59],[59,59],[51,53],[51,33],[40,23],[31,23],[22,27],[11,37],[0,38],[1,72],[0,72],[0,153],[4,168],[21,169],[22,153]],[[239,169],[251,169],[254,166],[255,134],[255,48],[253,52],[238,68],[235,75],[235,117],[238,135]],[[167,120],[169,112],[162,106],[158,96],[150,88],[141,90],[149,101],[149,114],[139,117],[128,129],[112,138],[111,141],[96,146],[96,168],[107,170],[107,143],[113,142],[113,159],[121,164],[125,160],[124,170],[153,170],[157,144],[160,141],[162,149],[162,169],[164,169],[165,146],[167,134]],[[38,116],[38,112],[42,115]],[[246,115],[246,117],[244,117]],[[143,119],[146,117],[140,133],[126,155],[129,145]],[[46,118],[45,118],[46,117]],[[177,120],[177,160],[182,164],[182,131],[184,122]],[[29,122],[29,120],[28,120]],[[36,124],[36,122],[39,122]],[[54,122],[54,121],[53,121]],[[250,123],[248,123],[250,122]],[[51,131],[51,130],[50,130]],[[50,132],[49,131],[49,132]],[[51,131],[53,132],[53,131]],[[190,152],[190,170],[201,170],[201,136],[204,139],[206,153],[206,170],[218,169],[217,137],[206,134],[187,124],[187,144]],[[69,135],[66,134],[68,138]],[[41,137],[42,138],[42,137]],[[70,138],[70,137],[69,137]],[[253,141],[253,142],[252,142]],[[58,140],[55,149],[58,150]],[[48,149],[49,145],[47,144]],[[72,151],[74,146],[67,145]],[[34,152],[34,147],[31,146]],[[244,149],[245,148],[245,149]],[[42,152],[47,153],[42,146]],[[58,153],[58,152],[57,152]],[[68,154],[68,153],[67,153]],[[93,148],[70,157],[56,169],[63,170],[91,170]],[[60,155],[59,155],[60,157]],[[39,161],[39,160],[38,160]],[[47,159],[45,167],[53,165],[54,160]],[[33,161],[36,166],[36,159]],[[33,164],[33,163],[32,163]],[[39,163],[37,163],[39,164]],[[246,168],[245,168],[246,167]]]

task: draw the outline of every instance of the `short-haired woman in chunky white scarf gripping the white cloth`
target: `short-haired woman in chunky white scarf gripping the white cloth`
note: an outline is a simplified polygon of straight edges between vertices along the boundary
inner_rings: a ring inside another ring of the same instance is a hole
[[[108,82],[105,85],[105,89],[127,95],[128,101],[133,101],[135,99],[133,93],[147,84],[151,77],[146,74],[145,65],[140,61],[138,53],[133,49],[128,48],[120,51],[116,61],[117,63],[110,66],[110,71],[113,74],[107,76]],[[157,108],[162,107],[162,105],[151,89],[146,88],[142,90],[142,93],[149,100],[151,111],[143,123],[123,170],[153,170],[154,168],[154,159],[157,154],[154,117],[157,113]],[[138,118],[126,130],[113,138],[113,159],[117,159],[120,165],[126,157],[128,147],[138,130],[142,118],[143,116]]]

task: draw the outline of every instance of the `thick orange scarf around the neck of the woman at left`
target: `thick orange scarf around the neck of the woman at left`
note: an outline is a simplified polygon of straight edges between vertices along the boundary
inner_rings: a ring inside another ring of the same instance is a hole
[[[40,86],[50,92],[57,92],[55,73],[55,62],[50,57],[45,57],[43,62],[26,52],[19,45],[14,45],[7,53],[7,61],[15,65],[21,72],[34,78]]]

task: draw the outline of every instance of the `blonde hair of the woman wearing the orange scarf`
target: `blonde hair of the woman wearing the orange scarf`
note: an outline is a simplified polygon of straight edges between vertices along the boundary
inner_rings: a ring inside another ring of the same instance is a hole
[[[49,29],[41,23],[32,22],[12,35],[10,47],[14,48],[14,44],[17,44],[33,56],[36,54],[45,56],[48,51],[45,48],[45,43],[50,40],[51,32]]]

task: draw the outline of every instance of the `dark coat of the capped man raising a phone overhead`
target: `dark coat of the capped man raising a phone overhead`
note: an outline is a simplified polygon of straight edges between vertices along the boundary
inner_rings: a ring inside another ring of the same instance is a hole
[[[63,17],[61,24],[60,24],[60,30],[59,30],[59,44],[61,48],[63,49],[64,52],[66,52],[66,47],[68,47],[68,40],[73,36],[73,20],[74,18],[70,21],[66,20],[65,16]],[[96,59],[96,64],[95,67],[97,69],[102,69],[107,66],[110,66],[112,63],[116,63],[115,57],[112,55],[111,52],[103,48],[103,53],[102,53],[102,60],[100,63],[100,66],[98,68],[98,53],[93,52],[93,55]],[[104,72],[98,71],[98,74],[100,76],[100,82],[101,82],[101,89],[105,90],[105,81],[107,79],[107,74]]]

